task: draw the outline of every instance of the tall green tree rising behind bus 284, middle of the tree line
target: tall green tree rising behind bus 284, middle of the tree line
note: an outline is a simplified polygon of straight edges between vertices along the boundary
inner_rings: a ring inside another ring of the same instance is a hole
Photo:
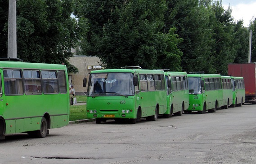
[[[184,39],[179,44],[183,52],[181,66],[184,71],[212,71],[212,44],[214,39],[211,26],[213,13],[209,11],[209,1],[167,0],[165,28],[176,27],[176,33]]]

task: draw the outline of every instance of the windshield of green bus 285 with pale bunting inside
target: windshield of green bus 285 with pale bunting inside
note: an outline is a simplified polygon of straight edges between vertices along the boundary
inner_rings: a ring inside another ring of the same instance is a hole
[[[89,96],[134,95],[132,73],[91,73]]]

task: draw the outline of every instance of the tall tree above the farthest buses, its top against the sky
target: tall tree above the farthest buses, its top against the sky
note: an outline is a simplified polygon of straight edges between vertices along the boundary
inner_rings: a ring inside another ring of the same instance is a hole
[[[221,1],[215,1],[212,5],[212,11],[215,13],[215,18],[211,21],[215,39],[213,45],[215,71],[213,73],[226,75],[228,64],[233,63],[237,56],[238,45],[235,42],[232,9],[229,7],[225,10],[221,3]]]

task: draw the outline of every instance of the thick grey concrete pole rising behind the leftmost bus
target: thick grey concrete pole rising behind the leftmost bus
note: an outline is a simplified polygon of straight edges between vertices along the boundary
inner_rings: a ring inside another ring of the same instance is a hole
[[[9,0],[8,58],[17,58],[16,0]]]

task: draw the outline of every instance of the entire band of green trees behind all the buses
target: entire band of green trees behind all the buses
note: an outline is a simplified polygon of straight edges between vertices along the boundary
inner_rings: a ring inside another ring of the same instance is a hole
[[[76,18],[70,17],[73,13]],[[247,62],[249,30],[221,0],[18,0],[17,52],[24,61],[65,63],[70,49],[105,68],[227,74]],[[7,56],[8,1],[0,0],[0,57]],[[256,35],[256,20],[250,27]],[[256,62],[256,37],[252,37]]]

